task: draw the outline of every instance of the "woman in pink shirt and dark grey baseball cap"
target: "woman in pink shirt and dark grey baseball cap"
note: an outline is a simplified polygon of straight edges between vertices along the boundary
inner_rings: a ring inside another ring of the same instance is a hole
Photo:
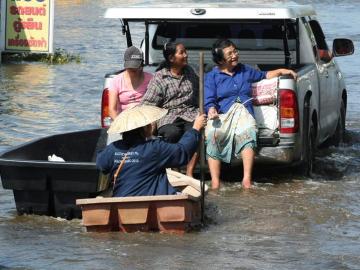
[[[109,114],[114,120],[122,111],[140,103],[152,74],[143,71],[143,54],[135,46],[126,49],[125,70],[114,77],[109,87]]]

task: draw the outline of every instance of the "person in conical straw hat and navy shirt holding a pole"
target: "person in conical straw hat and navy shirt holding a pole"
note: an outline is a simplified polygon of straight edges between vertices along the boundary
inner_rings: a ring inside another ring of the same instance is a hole
[[[186,165],[197,150],[200,130],[206,115],[198,116],[193,128],[177,143],[167,143],[152,136],[152,123],[167,110],[150,105],[137,105],[119,114],[108,133],[122,133],[123,139],[108,145],[96,157],[96,166],[111,179],[124,161],[116,178],[114,197],[176,194],[167,178],[166,168]]]

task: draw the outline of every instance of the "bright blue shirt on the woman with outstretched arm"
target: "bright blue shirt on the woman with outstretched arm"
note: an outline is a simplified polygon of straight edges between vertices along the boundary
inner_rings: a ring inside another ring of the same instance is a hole
[[[242,103],[251,99],[251,84],[265,78],[266,72],[244,64],[238,64],[232,76],[214,67],[205,75],[205,111],[215,107],[218,113],[226,113],[238,98]],[[252,101],[244,105],[254,116]]]

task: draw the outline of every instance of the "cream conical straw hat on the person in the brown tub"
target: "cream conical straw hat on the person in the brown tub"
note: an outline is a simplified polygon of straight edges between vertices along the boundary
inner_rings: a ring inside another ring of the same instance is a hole
[[[150,105],[137,105],[121,112],[111,123],[109,134],[123,133],[147,126],[167,114],[168,110]]]

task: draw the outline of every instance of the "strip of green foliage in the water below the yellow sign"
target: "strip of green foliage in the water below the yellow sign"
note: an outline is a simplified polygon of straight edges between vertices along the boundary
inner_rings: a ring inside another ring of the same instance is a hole
[[[80,55],[71,54],[64,49],[56,48],[54,53],[8,53],[3,55],[3,61],[29,61],[48,64],[80,63]]]

